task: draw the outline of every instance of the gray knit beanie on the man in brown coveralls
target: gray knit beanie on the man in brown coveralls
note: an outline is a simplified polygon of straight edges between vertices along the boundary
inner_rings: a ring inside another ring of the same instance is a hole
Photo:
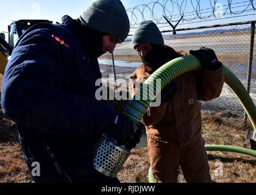
[[[138,44],[150,43],[165,45],[163,36],[158,29],[157,25],[152,21],[143,21],[140,26],[135,30],[132,36],[133,48]]]

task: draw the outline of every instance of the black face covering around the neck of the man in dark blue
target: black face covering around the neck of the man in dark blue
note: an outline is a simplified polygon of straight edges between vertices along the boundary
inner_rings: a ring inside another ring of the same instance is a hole
[[[88,57],[98,58],[103,55],[103,36],[107,34],[85,26],[80,19],[76,20],[76,24],[80,31],[80,43]]]

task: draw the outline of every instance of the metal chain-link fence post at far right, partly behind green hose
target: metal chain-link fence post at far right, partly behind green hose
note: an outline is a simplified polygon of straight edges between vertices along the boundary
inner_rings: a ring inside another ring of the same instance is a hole
[[[247,91],[250,93],[251,90],[251,80],[252,80],[252,60],[254,59],[254,36],[255,36],[255,21],[251,23],[251,41],[250,41],[250,49],[249,49],[249,63],[248,63],[248,71],[247,71]],[[244,112],[244,125],[247,123],[247,115]]]

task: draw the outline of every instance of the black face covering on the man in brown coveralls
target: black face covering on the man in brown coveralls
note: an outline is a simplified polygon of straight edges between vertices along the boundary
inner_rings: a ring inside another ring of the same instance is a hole
[[[151,50],[144,57],[141,57],[141,60],[152,68],[153,71],[156,71],[168,62],[168,51],[163,45],[152,44]]]

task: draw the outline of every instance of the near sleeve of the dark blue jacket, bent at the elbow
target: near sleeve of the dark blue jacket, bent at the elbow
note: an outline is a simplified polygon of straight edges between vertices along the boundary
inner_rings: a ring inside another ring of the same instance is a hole
[[[117,114],[112,107],[60,87],[71,49],[55,41],[49,30],[24,37],[5,70],[4,114],[20,126],[49,133],[87,135],[111,128]]]

